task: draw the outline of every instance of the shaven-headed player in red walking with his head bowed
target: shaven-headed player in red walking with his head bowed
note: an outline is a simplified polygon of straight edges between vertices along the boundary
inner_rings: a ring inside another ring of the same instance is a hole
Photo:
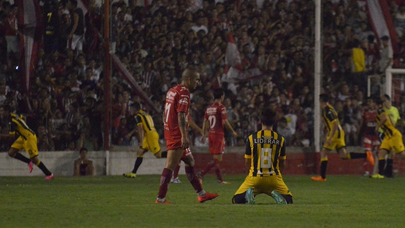
[[[190,90],[193,91],[200,82],[200,73],[188,67],[182,73],[182,82],[175,85],[166,93],[164,104],[163,128],[166,140],[167,159],[160,177],[159,192],[155,203],[170,204],[165,197],[170,184],[173,170],[182,158],[185,149],[189,148],[190,142],[187,132],[187,118],[190,108]],[[205,192],[201,182],[194,175],[194,158],[185,156],[186,174],[191,185],[198,195],[199,202],[214,199],[218,194]]]

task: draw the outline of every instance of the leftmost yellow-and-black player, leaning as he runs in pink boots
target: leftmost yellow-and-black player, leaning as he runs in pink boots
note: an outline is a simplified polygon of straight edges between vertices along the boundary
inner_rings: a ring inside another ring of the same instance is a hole
[[[32,172],[33,164],[38,166],[42,172],[45,174],[45,179],[50,180],[53,178],[53,174],[49,172],[46,166],[38,160],[38,147],[37,147],[37,138],[27,123],[25,123],[25,117],[18,115],[17,113],[12,112],[12,108],[9,105],[4,106],[5,111],[10,115],[9,121],[9,137],[18,137],[14,143],[10,146],[9,156],[16,158],[22,162],[28,164],[29,172]],[[23,156],[19,151],[25,150],[30,158]]]

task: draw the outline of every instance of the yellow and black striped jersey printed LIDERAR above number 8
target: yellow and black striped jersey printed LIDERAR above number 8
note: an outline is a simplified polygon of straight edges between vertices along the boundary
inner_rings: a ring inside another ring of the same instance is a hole
[[[285,160],[284,141],[284,137],[270,130],[258,131],[247,138],[245,158],[251,159],[251,177],[281,175],[278,159]]]

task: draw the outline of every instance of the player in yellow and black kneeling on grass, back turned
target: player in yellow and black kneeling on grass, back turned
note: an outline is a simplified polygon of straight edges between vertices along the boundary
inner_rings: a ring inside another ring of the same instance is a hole
[[[293,195],[282,180],[285,165],[285,139],[273,131],[275,112],[264,109],[260,122],[262,130],[246,140],[245,166],[249,172],[236,191],[233,203],[255,203],[255,196],[267,194],[277,204],[293,203]]]

